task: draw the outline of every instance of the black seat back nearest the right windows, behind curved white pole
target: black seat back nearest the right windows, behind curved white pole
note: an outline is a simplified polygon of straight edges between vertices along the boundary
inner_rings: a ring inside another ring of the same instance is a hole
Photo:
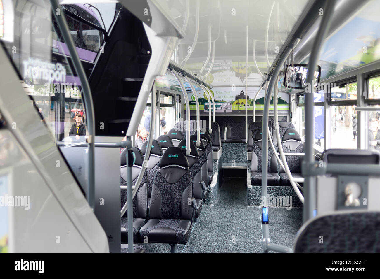
[[[282,136],[284,153],[304,153],[304,144],[296,129],[287,129]],[[285,156],[290,172],[301,173],[302,156]],[[285,172],[280,167],[280,172]]]

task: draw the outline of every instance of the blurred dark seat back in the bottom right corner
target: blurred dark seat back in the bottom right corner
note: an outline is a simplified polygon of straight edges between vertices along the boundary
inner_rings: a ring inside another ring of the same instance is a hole
[[[296,235],[294,252],[379,253],[379,231],[380,212],[334,212],[306,222]]]

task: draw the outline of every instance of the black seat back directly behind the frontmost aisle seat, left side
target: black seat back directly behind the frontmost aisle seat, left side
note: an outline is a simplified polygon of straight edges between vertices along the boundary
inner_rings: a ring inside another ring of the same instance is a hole
[[[186,155],[186,140],[182,139],[179,146],[182,149],[182,152]],[[190,155],[186,155],[187,161],[189,163],[190,174],[193,180],[193,197],[195,199],[202,199],[203,190],[202,186],[199,184],[199,181],[202,179],[202,165],[201,160],[199,159],[199,152],[196,148],[196,145],[190,141]]]

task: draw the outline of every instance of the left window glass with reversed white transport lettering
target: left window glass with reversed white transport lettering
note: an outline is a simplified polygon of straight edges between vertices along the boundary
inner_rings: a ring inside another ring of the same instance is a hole
[[[18,31],[13,41],[3,41],[3,45],[19,72],[26,94],[32,97],[31,105],[49,127],[52,140],[84,141],[86,111],[81,83],[67,61],[70,53],[59,53],[67,50],[67,46],[62,38],[56,40],[60,35],[51,7],[43,2],[24,1],[23,9],[17,13],[14,29]],[[80,118],[74,127],[76,115]]]

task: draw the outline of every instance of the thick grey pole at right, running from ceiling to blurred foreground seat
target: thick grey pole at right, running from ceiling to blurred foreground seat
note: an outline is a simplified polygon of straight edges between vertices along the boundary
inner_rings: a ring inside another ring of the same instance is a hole
[[[303,223],[308,219],[313,218],[314,210],[316,209],[316,197],[317,197],[317,185],[315,176],[310,175],[310,170],[315,168],[315,158],[313,155],[313,143],[314,143],[314,71],[317,67],[317,61],[321,51],[323,42],[328,33],[330,23],[332,20],[332,14],[334,13],[334,6],[336,0],[326,1],[325,8],[323,10],[321,24],[318,28],[318,33],[315,36],[312,51],[310,53],[308,75],[306,78],[306,86],[310,88],[310,92],[305,94],[305,161],[303,165],[302,174],[305,177],[304,198],[305,204],[303,208]],[[306,89],[307,89],[306,87]],[[306,169],[306,171],[304,171]]]

